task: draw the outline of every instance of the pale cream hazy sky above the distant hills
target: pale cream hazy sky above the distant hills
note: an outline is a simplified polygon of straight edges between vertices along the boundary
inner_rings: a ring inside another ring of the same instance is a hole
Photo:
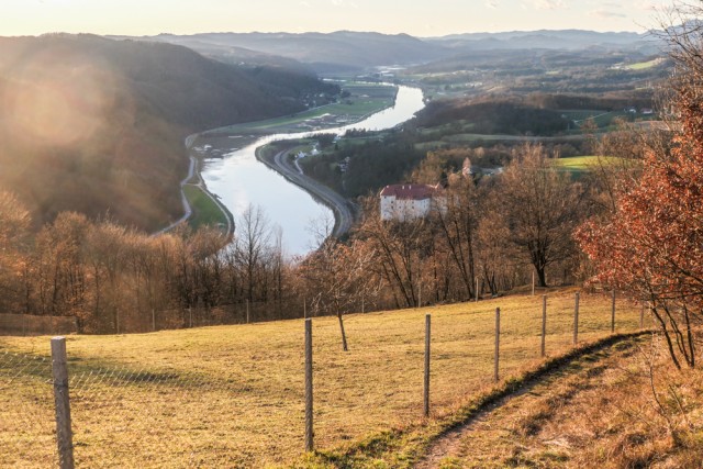
[[[438,36],[538,29],[644,31],[665,0],[0,0],[0,36],[331,32]]]

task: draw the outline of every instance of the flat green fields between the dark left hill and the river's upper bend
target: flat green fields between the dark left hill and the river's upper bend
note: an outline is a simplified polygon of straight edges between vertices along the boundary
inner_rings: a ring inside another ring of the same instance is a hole
[[[275,134],[324,130],[358,122],[364,118],[393,105],[395,87],[375,83],[343,83],[348,92],[337,103],[266,121],[249,122],[216,129],[216,134]]]

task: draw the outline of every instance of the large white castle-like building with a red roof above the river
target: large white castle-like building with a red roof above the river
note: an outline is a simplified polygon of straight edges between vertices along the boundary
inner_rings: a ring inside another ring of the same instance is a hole
[[[405,222],[427,216],[433,206],[445,208],[446,200],[439,185],[392,185],[380,193],[381,220]]]

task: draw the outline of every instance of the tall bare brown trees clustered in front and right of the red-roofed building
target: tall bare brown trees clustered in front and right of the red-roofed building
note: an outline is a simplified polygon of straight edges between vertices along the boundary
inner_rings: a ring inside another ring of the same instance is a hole
[[[542,146],[525,145],[513,156],[499,176],[446,175],[444,194],[425,219],[382,222],[376,199],[367,202],[355,237],[376,253],[373,271],[394,305],[495,295],[527,282],[533,269],[542,286],[548,275],[553,281],[572,278],[578,252],[570,231],[587,214],[587,192]],[[440,179],[444,165],[432,161],[444,157],[451,155],[427,158],[415,181]]]

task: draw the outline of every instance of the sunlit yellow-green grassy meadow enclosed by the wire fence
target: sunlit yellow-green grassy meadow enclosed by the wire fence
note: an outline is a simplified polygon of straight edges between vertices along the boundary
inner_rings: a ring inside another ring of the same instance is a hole
[[[548,295],[549,356],[572,347],[573,292]],[[348,315],[348,353],[336,319],[314,319],[315,446],[332,455],[325,464],[373,435],[425,427],[427,313],[429,423],[490,390],[499,306],[507,378],[542,360],[539,297]],[[617,330],[636,330],[639,311],[621,301]],[[607,334],[610,298],[582,294],[580,340]],[[55,457],[48,348],[48,337],[0,337],[0,460],[10,466],[45,467]],[[306,467],[301,320],[70,336],[67,348],[79,467]],[[397,462],[389,465],[377,467]]]

